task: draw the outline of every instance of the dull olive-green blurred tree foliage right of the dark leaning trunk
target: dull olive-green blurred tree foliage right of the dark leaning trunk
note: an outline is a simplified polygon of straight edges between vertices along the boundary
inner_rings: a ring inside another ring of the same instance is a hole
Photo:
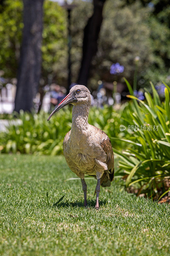
[[[123,81],[125,76],[132,82],[135,71],[135,57],[139,56],[139,72],[152,63],[153,51],[150,44],[150,29],[147,25],[148,9],[136,3],[122,6],[122,1],[107,1],[103,10],[103,24],[99,39],[98,54],[95,58],[95,73],[101,80]],[[112,63],[123,65],[119,76],[110,75]]]

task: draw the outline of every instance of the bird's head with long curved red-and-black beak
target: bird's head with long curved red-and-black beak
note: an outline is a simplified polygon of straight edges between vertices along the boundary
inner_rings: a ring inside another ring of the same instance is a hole
[[[59,103],[57,108],[53,110],[51,115],[48,117],[47,121],[60,110],[68,104],[78,105],[78,104],[87,104],[87,106],[91,105],[91,97],[88,88],[84,85],[74,85],[68,95]]]

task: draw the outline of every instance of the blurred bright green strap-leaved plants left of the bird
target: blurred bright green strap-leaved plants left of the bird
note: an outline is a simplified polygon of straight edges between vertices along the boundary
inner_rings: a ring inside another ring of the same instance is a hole
[[[63,118],[63,114],[64,118]],[[71,129],[69,109],[61,110],[57,120],[47,122],[48,114],[20,112],[21,123],[11,125],[7,133],[1,135],[2,152],[36,153],[55,155],[62,152],[62,141]]]

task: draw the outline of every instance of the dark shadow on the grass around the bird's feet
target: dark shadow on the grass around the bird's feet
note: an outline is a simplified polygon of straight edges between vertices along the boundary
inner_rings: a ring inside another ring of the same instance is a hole
[[[89,207],[92,207],[92,208],[94,208],[95,207],[95,204],[96,204],[96,200],[88,200],[87,201],[87,203],[88,203],[88,206]],[[105,204],[107,204],[107,200],[106,199],[104,199],[104,200],[99,200],[99,205],[100,206],[102,206],[102,205],[105,205]],[[83,201],[75,201],[75,202],[69,202],[69,200],[67,200],[67,202],[60,202],[59,204],[57,204],[57,205],[53,205],[53,207],[70,207],[70,206],[72,206],[72,207],[84,207],[84,200]]]

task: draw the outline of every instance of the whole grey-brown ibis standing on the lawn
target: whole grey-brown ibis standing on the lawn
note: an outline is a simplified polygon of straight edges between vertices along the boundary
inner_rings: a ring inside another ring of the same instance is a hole
[[[85,207],[88,207],[88,202],[84,175],[96,178],[95,209],[98,210],[100,186],[110,187],[111,181],[114,179],[112,145],[105,132],[88,123],[91,95],[89,89],[84,85],[74,85],[68,95],[53,110],[47,121],[68,104],[73,105],[72,126],[63,141],[63,154],[71,171],[81,179]]]

